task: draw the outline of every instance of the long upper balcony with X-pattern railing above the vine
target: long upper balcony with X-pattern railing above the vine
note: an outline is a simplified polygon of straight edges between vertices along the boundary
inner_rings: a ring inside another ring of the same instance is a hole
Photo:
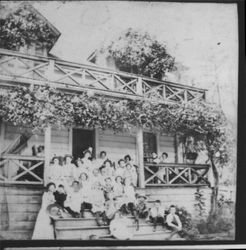
[[[164,102],[174,103],[205,99],[206,94],[205,89],[142,75],[0,49],[1,86],[47,83],[65,91],[92,90],[117,98],[136,99],[154,94]]]

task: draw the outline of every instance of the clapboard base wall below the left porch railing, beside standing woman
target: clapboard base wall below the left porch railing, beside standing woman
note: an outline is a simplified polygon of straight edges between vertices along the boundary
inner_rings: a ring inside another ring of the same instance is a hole
[[[41,186],[0,186],[0,238],[31,238],[42,194]]]

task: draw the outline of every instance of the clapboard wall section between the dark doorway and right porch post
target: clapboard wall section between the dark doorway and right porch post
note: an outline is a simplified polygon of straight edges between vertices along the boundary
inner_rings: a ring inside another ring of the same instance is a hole
[[[137,163],[136,135],[114,134],[111,131],[99,131],[99,152],[105,150],[109,159],[118,161],[126,154],[131,155]]]

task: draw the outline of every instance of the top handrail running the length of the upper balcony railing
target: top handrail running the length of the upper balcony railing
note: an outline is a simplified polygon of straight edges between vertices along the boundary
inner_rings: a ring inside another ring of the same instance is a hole
[[[11,51],[11,50],[6,50],[6,49],[0,49],[0,54],[7,55],[7,56],[17,56],[17,57],[21,57],[24,59],[34,60],[34,61],[43,61],[43,62],[55,61],[57,64],[60,64],[63,66],[69,66],[69,67],[75,67],[75,68],[83,67],[83,68],[86,68],[88,70],[93,70],[93,71],[97,71],[100,73],[116,74],[116,75],[119,75],[119,76],[125,77],[125,78],[135,78],[135,79],[141,78],[143,81],[147,81],[147,82],[151,82],[151,83],[155,83],[155,84],[168,85],[171,87],[193,90],[193,91],[202,92],[202,93],[205,93],[205,91],[207,91],[207,89],[202,89],[202,88],[198,88],[198,87],[187,86],[187,85],[173,83],[173,82],[169,82],[169,81],[161,81],[161,80],[153,79],[151,77],[147,77],[147,76],[143,76],[143,75],[127,73],[127,72],[122,72],[122,71],[118,71],[118,70],[111,70],[111,69],[96,66],[96,65],[93,66],[93,65],[88,65],[88,64],[84,64],[84,63],[70,62],[70,61],[52,58],[52,57],[27,55],[27,54],[24,54],[21,52],[16,52],[16,51]]]

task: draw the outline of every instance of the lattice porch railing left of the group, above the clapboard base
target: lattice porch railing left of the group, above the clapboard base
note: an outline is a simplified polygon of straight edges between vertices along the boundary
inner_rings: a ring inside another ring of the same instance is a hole
[[[43,184],[44,157],[2,155],[0,183]]]

